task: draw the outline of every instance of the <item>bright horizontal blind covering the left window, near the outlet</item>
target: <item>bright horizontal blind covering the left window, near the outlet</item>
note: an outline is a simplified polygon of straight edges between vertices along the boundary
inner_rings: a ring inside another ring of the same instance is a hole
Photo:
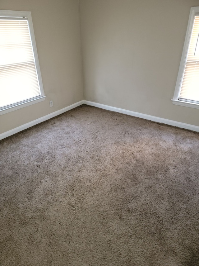
[[[41,95],[27,19],[0,18],[0,108]]]

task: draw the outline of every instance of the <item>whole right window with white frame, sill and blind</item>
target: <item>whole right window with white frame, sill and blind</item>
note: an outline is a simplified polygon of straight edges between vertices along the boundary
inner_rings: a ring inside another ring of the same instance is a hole
[[[199,7],[192,7],[174,93],[174,104],[199,108]]]

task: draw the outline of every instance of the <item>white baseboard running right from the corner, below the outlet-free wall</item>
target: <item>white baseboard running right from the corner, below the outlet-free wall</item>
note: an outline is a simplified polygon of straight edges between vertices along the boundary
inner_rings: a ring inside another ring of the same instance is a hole
[[[186,124],[186,123],[182,123],[182,122],[178,122],[178,121],[174,121],[174,120],[169,120],[169,119],[165,119],[165,118],[161,118],[161,117],[157,117],[157,116],[150,116],[150,115],[146,115],[146,114],[142,114],[142,113],[138,113],[138,112],[133,112],[133,111],[129,111],[129,110],[125,110],[125,109],[121,109],[121,108],[117,108],[117,107],[113,107],[113,106],[109,106],[109,105],[105,105],[105,104],[101,104],[101,103],[97,103],[97,102],[90,102],[90,101],[84,100],[83,103],[90,105],[90,106],[99,107],[99,108],[102,108],[105,110],[118,112],[118,113],[126,114],[129,116],[136,116],[136,117],[144,118],[146,120],[151,120],[154,122],[159,122],[159,123],[163,123],[163,124],[170,125],[170,126],[177,126],[180,128],[189,129],[192,131],[199,132],[199,126],[194,126],[194,125],[190,125],[190,124]]]

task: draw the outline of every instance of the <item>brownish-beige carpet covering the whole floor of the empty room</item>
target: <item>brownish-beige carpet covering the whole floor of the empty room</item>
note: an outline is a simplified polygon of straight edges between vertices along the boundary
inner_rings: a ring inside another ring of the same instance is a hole
[[[0,265],[199,265],[198,133],[83,105],[0,148]]]

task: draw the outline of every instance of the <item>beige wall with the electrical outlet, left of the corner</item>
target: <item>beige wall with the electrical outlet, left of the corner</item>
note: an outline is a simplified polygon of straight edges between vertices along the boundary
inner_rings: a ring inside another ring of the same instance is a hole
[[[47,95],[44,102],[1,115],[3,133],[81,101],[83,88],[78,0],[0,0],[0,9],[31,11]]]

